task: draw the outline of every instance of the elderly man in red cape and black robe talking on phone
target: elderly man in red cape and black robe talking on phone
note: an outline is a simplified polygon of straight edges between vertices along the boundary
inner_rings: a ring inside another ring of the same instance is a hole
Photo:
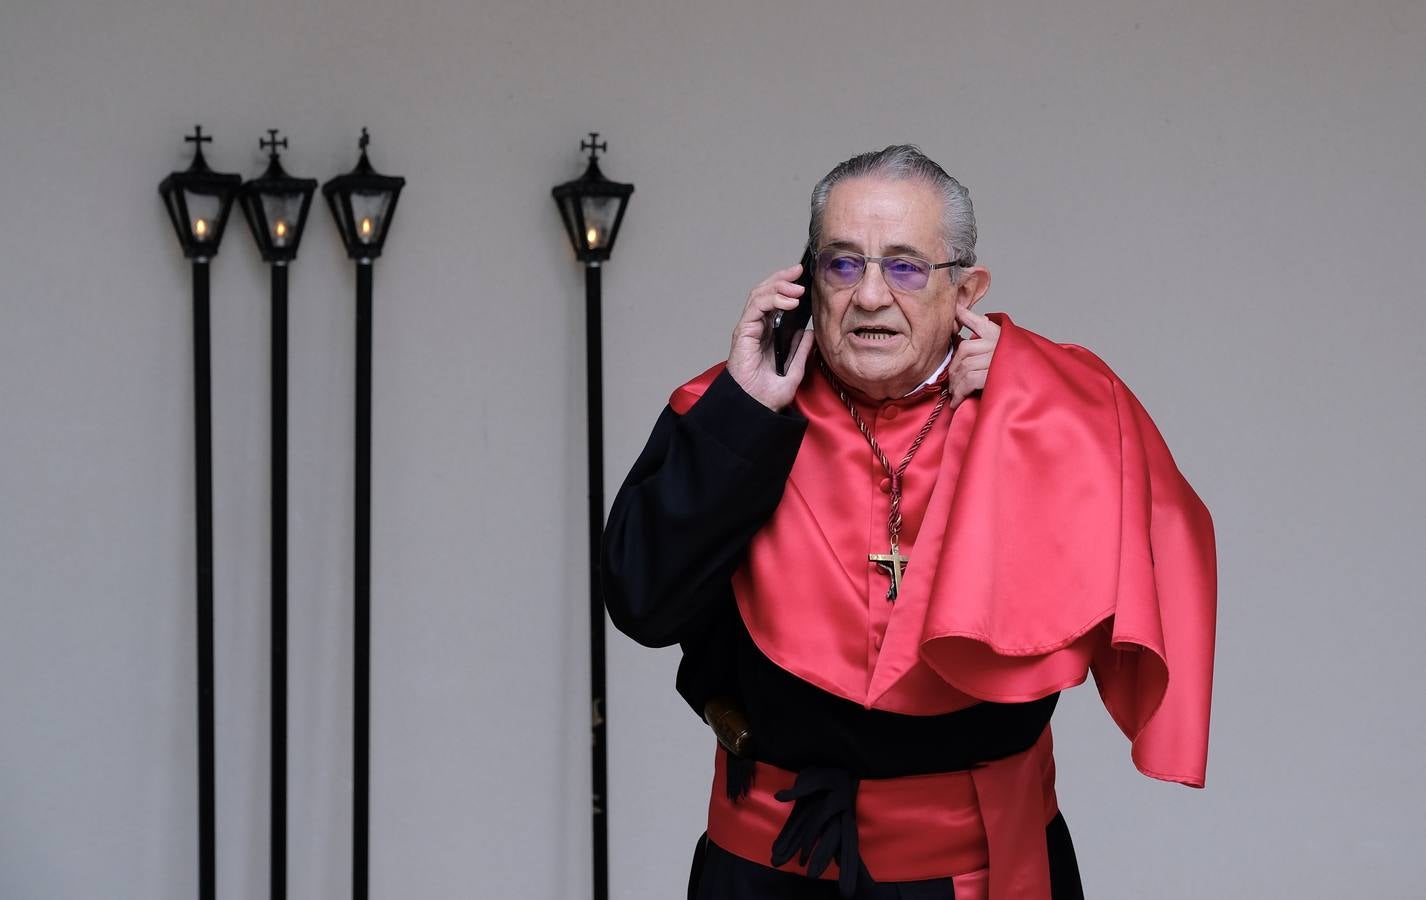
[[[673,392],[605,538],[615,625],[682,645],[719,736],[689,896],[1079,897],[1050,716],[1092,670],[1139,770],[1202,786],[1208,511],[1102,361],[973,310],[970,197],[914,147],[817,184],[804,260]]]

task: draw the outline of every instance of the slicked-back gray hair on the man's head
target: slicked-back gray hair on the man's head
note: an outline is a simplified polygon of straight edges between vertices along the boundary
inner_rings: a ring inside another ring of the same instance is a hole
[[[827,211],[827,197],[831,188],[844,178],[880,177],[906,181],[921,181],[941,195],[941,237],[945,238],[948,260],[961,265],[975,264],[975,210],[971,207],[970,191],[960,181],[945,174],[935,160],[911,144],[893,144],[886,150],[873,150],[838,163],[823,175],[811,190],[811,220],[807,224],[807,245],[813,250],[821,245],[821,220]],[[933,260],[941,262],[941,260]],[[951,270],[954,278],[957,271]]]

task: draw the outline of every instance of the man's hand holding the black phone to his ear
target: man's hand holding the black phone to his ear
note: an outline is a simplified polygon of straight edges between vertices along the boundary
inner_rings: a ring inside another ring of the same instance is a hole
[[[794,281],[801,274],[801,264],[780,268],[763,280],[747,295],[743,318],[733,329],[733,347],[727,354],[727,374],[749,397],[774,412],[793,402],[797,385],[807,368],[807,354],[811,352],[813,335],[804,331],[793,344],[793,355],[787,359],[787,375],[777,374],[773,361],[771,315],[777,310],[793,310],[803,300],[804,288]],[[992,325],[994,327],[994,325]]]

